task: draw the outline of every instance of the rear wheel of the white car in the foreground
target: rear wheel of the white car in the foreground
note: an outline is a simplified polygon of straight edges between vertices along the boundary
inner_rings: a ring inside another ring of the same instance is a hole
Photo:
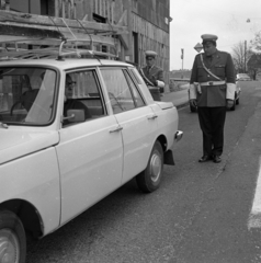
[[[163,175],[163,150],[159,141],[156,141],[149,156],[147,168],[136,176],[140,191],[151,193],[156,191]]]

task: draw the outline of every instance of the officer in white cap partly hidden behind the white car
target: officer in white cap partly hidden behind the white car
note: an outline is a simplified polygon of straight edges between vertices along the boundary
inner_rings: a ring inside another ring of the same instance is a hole
[[[146,67],[141,68],[140,73],[147,83],[155,101],[160,101],[160,93],[164,92],[163,70],[157,67],[157,53],[147,50],[145,53]]]

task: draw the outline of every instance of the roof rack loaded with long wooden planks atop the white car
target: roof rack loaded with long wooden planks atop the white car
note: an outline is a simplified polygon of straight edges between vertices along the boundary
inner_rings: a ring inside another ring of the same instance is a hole
[[[0,61],[94,57],[117,59],[125,26],[0,10]],[[38,20],[41,24],[38,25]],[[102,50],[102,52],[101,52]]]

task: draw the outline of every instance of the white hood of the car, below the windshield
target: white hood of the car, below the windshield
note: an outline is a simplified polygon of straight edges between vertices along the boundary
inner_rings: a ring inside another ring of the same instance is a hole
[[[59,142],[57,132],[0,128],[0,164]]]

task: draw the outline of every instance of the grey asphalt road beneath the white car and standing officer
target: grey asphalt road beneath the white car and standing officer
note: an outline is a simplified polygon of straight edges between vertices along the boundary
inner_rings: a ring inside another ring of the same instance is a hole
[[[261,262],[261,231],[249,218],[261,155],[261,84],[241,85],[227,112],[222,163],[198,163],[197,115],[179,110],[182,140],[161,187],[130,181],[56,232],[30,244],[27,263]]]

